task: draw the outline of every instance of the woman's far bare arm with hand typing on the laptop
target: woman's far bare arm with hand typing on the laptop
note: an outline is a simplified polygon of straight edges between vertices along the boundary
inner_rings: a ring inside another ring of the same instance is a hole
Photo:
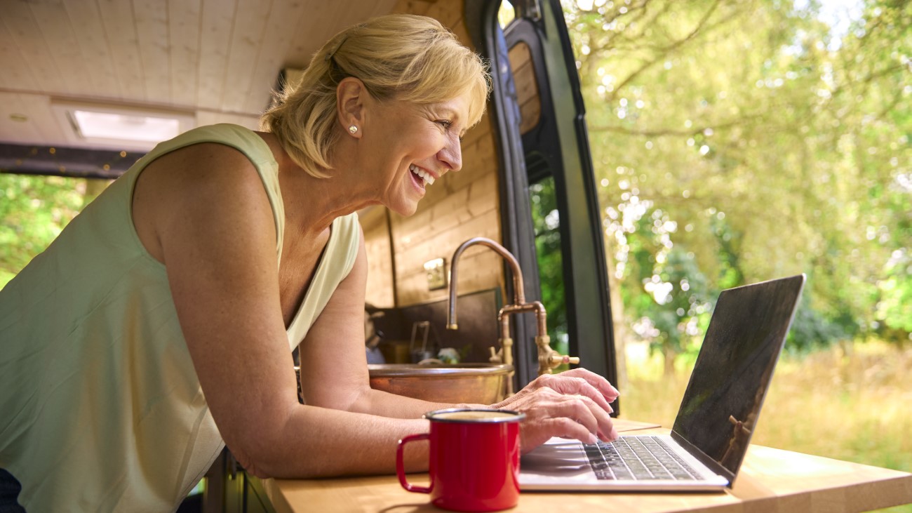
[[[526,414],[522,429],[524,452],[551,436],[587,442],[596,436],[604,440],[617,437],[608,416],[612,411],[608,403],[617,398],[617,390],[583,369],[541,376],[520,393],[490,406],[428,403],[371,389],[363,323],[367,267],[362,242],[355,267],[300,346],[301,387],[308,404],[398,418],[417,418],[431,410],[453,406],[518,410]],[[424,461],[422,456],[416,457]]]

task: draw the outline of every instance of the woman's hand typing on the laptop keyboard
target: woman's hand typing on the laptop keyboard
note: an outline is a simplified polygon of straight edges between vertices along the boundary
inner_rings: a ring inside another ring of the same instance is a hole
[[[525,414],[520,438],[523,454],[552,436],[575,438],[586,444],[596,437],[609,442],[617,431],[608,415],[608,403],[617,399],[617,389],[605,378],[586,369],[544,374],[523,390],[492,408]]]

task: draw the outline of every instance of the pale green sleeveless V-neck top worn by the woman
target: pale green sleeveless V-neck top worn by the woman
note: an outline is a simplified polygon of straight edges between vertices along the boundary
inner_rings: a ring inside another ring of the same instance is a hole
[[[28,511],[173,510],[223,448],[165,267],[140,244],[130,209],[149,162],[198,142],[232,146],[254,163],[281,257],[285,214],[272,152],[253,131],[213,125],[156,146],[0,291],[0,468],[22,483]],[[337,218],[288,330],[290,349],[357,252],[357,215]]]

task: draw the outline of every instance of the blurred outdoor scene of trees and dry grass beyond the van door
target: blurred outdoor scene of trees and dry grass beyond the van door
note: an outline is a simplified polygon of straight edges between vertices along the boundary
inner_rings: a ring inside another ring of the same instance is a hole
[[[912,471],[912,6],[564,6],[626,346],[623,416],[671,426],[721,289],[804,272],[753,443]],[[559,220],[536,187],[547,247]],[[540,265],[551,319],[560,271],[549,282]]]

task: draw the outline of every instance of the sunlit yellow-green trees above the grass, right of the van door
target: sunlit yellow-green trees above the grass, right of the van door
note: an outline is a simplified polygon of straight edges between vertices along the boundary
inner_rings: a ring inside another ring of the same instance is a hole
[[[652,277],[673,284],[671,257],[684,255],[676,272],[705,281],[698,302],[807,273],[795,348],[908,340],[907,3],[860,1],[843,21],[814,0],[585,6],[566,1],[565,17],[634,331],[666,354],[689,351],[676,291],[658,301],[648,290]]]

